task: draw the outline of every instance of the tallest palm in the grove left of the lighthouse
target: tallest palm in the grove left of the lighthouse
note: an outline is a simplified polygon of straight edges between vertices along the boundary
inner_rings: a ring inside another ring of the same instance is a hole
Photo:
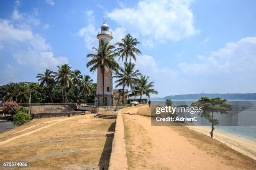
[[[56,80],[59,82],[62,88],[64,88],[65,93],[65,100],[68,102],[67,99],[67,88],[72,85],[72,71],[71,67],[68,64],[61,65],[58,72],[56,73]],[[62,90],[62,96],[63,96],[63,90]],[[63,98],[63,97],[62,97]]]

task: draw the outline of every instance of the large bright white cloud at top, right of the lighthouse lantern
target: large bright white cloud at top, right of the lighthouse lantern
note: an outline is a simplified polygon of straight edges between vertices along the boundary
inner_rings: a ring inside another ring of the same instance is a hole
[[[133,8],[122,7],[108,13],[129,32],[139,32],[144,45],[152,46],[154,41],[178,41],[194,35],[194,15],[190,10],[192,0],[141,0]]]

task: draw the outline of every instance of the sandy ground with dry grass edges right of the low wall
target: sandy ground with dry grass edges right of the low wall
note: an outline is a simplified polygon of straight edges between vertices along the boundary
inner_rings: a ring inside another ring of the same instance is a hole
[[[256,161],[219,141],[184,126],[151,126],[148,106],[125,108],[123,114],[128,169],[255,169]],[[142,111],[143,110],[143,111]]]

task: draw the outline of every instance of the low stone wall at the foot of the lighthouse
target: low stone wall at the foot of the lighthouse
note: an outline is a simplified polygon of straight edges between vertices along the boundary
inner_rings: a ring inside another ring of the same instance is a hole
[[[94,106],[80,106],[82,110],[89,110],[92,113],[98,113],[100,111],[114,111],[120,110],[125,107],[131,107],[131,105],[111,105],[111,106],[102,106],[102,107],[94,107]]]

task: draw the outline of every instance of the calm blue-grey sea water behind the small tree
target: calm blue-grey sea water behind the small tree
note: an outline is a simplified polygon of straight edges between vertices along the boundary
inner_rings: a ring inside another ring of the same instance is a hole
[[[152,104],[165,105],[165,100],[151,101]],[[172,106],[190,105],[194,101],[172,100]],[[256,100],[228,100],[228,103],[232,105],[233,110],[228,114],[214,114],[214,117],[220,122],[220,125],[215,126],[215,129],[221,133],[256,141]],[[201,119],[197,114],[191,117],[194,116],[198,117],[197,122],[194,123],[195,125],[209,125],[207,120]]]

